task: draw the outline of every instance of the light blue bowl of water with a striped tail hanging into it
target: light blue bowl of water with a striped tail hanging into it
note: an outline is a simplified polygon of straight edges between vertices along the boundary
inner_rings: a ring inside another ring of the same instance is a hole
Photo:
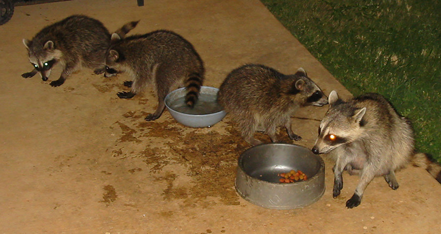
[[[201,86],[199,98],[193,108],[185,104],[185,88],[170,92],[165,104],[172,117],[179,123],[192,128],[211,127],[225,117],[226,112],[218,104],[219,88]]]

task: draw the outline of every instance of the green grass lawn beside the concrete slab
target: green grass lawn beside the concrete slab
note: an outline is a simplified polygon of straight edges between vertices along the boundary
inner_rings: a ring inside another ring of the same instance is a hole
[[[441,162],[441,2],[262,0],[354,96],[384,95]]]

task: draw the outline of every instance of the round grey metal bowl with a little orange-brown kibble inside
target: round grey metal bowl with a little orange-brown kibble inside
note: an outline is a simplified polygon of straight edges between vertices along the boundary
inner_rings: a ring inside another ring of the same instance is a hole
[[[308,179],[281,183],[277,174],[303,171]],[[238,160],[236,191],[246,201],[270,209],[311,205],[325,191],[324,163],[311,149],[290,144],[263,144],[245,150]]]

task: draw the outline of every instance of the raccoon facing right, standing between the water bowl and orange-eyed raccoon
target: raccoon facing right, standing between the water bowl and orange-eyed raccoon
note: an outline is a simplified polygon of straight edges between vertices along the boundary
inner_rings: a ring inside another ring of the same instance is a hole
[[[284,126],[291,139],[300,140],[291,128],[294,111],[301,106],[328,103],[303,68],[294,75],[284,75],[260,64],[245,64],[228,74],[220,87],[218,102],[250,145],[262,144],[253,137],[256,131],[266,132],[272,142],[277,142],[278,126]]]

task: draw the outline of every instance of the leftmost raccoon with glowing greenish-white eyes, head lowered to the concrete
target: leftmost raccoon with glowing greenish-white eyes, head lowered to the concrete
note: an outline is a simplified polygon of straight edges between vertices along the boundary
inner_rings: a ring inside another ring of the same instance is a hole
[[[123,36],[137,23],[127,23],[117,33]],[[103,73],[110,33],[98,20],[73,15],[43,28],[31,41],[23,39],[23,43],[34,69],[22,77],[29,78],[40,72],[42,80],[47,81],[52,67],[60,63],[63,66],[60,78],[50,82],[56,87],[63,85],[66,78],[82,66],[95,69],[95,74]]]

